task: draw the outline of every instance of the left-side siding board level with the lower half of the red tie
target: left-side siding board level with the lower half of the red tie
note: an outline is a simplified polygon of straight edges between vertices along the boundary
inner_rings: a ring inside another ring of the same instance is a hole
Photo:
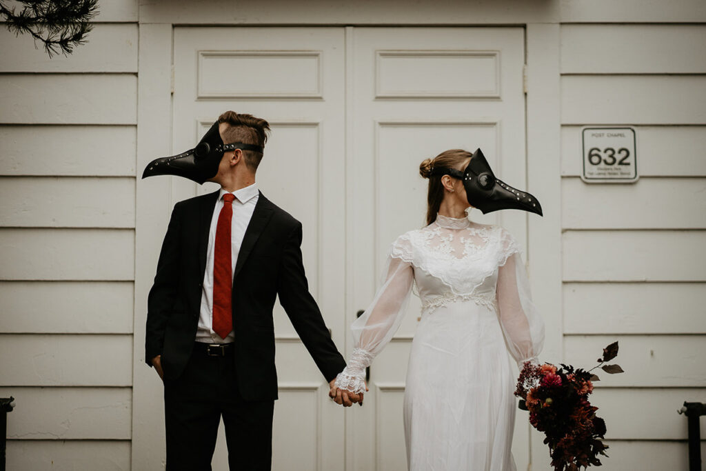
[[[0,282],[0,333],[132,333],[133,282]]]

